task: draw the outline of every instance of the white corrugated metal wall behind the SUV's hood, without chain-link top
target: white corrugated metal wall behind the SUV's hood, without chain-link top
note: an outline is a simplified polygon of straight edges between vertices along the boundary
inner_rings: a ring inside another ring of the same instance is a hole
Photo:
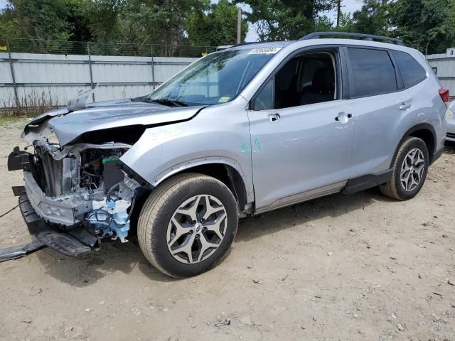
[[[99,83],[95,101],[147,94],[197,58],[0,53],[0,107],[45,99],[64,105]],[[12,71],[12,72],[11,72]]]

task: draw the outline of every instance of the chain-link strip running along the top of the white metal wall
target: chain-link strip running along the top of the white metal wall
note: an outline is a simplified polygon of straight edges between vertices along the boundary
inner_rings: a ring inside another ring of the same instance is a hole
[[[0,37],[0,52],[11,53],[198,58],[215,50],[214,46],[97,43]]]

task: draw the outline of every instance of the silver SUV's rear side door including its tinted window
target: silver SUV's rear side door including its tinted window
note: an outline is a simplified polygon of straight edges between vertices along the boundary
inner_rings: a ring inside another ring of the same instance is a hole
[[[397,126],[412,107],[392,52],[347,47],[349,98],[355,113],[351,178],[390,168],[397,146]]]

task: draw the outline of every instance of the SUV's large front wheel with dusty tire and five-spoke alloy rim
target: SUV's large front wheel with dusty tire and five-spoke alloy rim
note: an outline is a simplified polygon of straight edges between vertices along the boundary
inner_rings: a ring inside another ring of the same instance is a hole
[[[149,195],[137,234],[146,259],[164,274],[181,278],[216,266],[230,249],[237,224],[237,202],[224,183],[185,173],[166,180]]]

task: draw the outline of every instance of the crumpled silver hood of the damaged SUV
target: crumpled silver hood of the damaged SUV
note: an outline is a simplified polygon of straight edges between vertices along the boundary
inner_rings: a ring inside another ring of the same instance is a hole
[[[32,144],[37,139],[46,139],[53,132],[60,146],[65,146],[88,131],[185,121],[202,108],[203,106],[167,107],[155,103],[133,102],[131,99],[98,102],[75,112],[62,108],[41,114],[26,125],[22,137]]]

